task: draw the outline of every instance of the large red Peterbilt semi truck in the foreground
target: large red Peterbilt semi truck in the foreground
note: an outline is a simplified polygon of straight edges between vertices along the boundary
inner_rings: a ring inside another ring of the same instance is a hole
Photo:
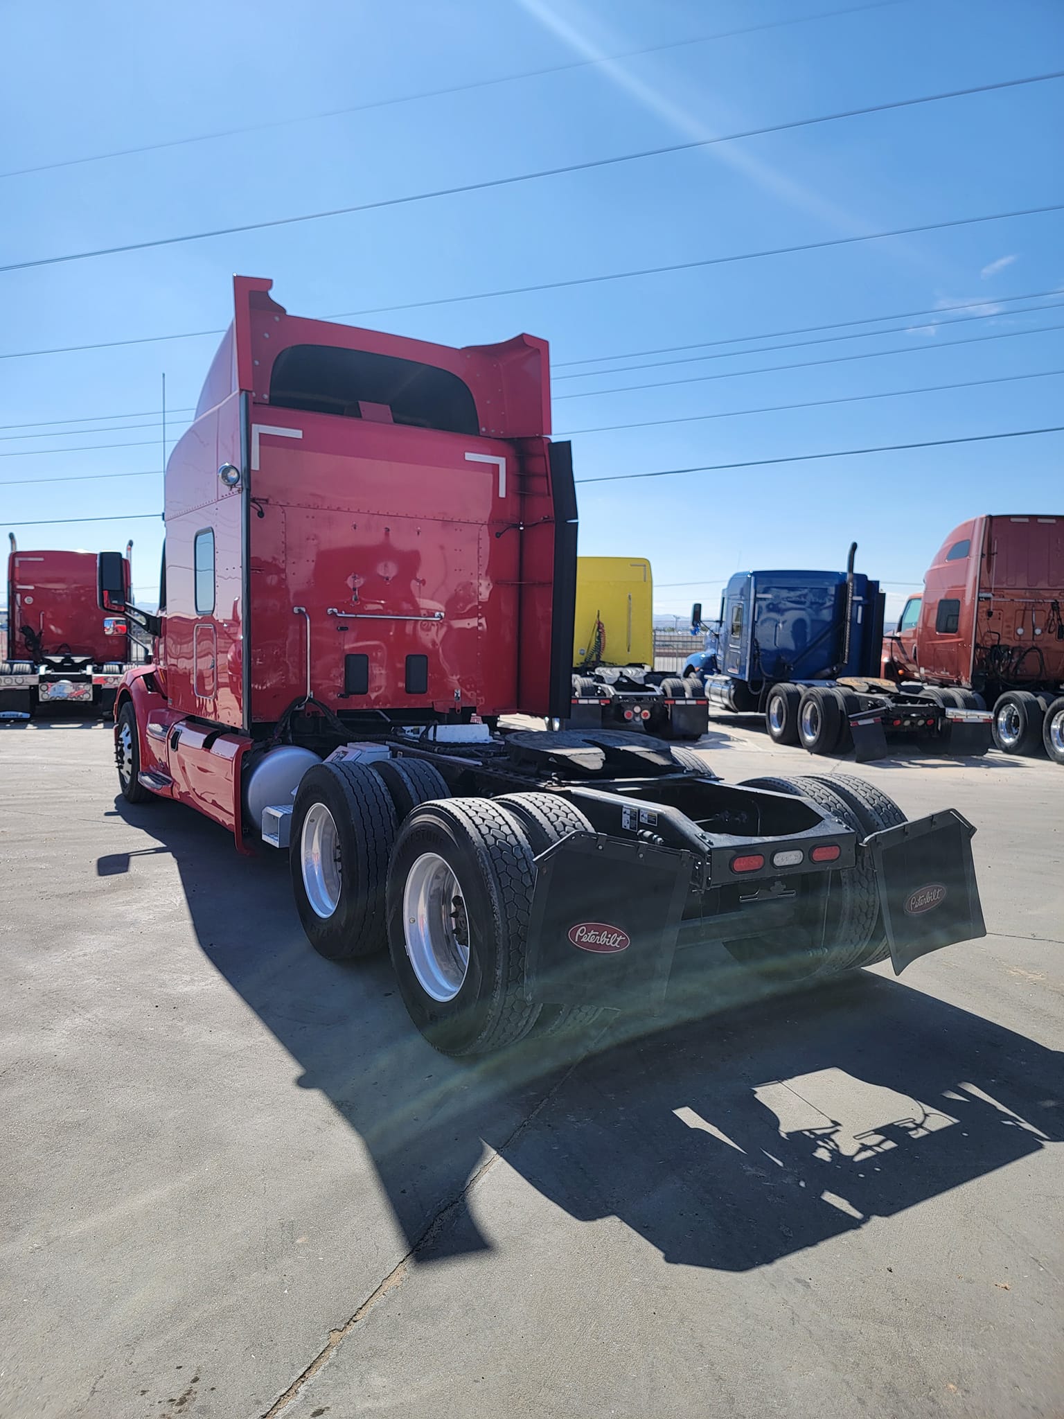
[[[311,945],[387,948],[455,1056],[653,1010],[711,942],[790,979],[983,935],[951,809],[908,822],[851,778],[733,786],[643,734],[499,732],[570,701],[577,515],[546,343],[450,349],[270,289],[235,278],[166,470],[156,657],[116,707],[128,802],[287,847]],[[101,603],[125,586],[101,555]]]

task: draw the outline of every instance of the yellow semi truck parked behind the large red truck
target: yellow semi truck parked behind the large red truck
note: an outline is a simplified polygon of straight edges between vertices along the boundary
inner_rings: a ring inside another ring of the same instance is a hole
[[[654,579],[641,556],[579,556],[572,728],[644,728],[701,739],[709,704],[692,680],[654,670]]]

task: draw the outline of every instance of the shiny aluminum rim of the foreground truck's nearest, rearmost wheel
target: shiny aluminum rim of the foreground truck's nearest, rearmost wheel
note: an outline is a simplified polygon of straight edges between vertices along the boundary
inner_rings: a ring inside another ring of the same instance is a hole
[[[403,939],[426,995],[453,1000],[470,969],[470,927],[461,883],[438,853],[423,853],[407,874]]]

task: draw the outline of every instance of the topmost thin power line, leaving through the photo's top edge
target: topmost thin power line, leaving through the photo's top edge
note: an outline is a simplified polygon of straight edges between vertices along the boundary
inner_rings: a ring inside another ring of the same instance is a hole
[[[785,26],[809,24],[813,20],[833,20],[838,16],[860,14],[863,10],[881,10],[890,4],[902,4],[905,0],[868,0],[867,4],[847,6],[844,10],[821,10],[817,14],[800,14],[785,20],[767,20],[763,24],[749,24],[739,30],[718,30],[714,34],[694,35],[689,40],[670,40],[667,44],[651,44],[640,50],[623,50],[620,54],[610,54],[602,60],[573,60],[569,64],[552,64],[549,68],[525,70],[521,74],[504,74],[494,79],[475,79],[472,84],[453,84],[447,88],[421,89],[417,94],[399,94],[393,98],[372,99],[367,104],[353,104],[350,108],[326,109],[322,114],[302,114],[295,118],[278,118],[268,123],[245,123],[241,128],[220,128],[210,133],[192,133],[187,138],[172,138],[162,143],[145,143],[139,148],[116,148],[108,153],[92,153],[88,158],[64,158],[52,163],[37,163],[33,167],[13,167],[0,177],[23,177],[27,173],[54,172],[57,167],[77,167],[84,163],[102,163],[112,158],[132,158],[136,153],[157,153],[166,148],[183,148],[187,143],[207,143],[218,138],[237,138],[243,133],[262,133],[270,129],[289,128],[297,123],[316,123],[329,118],[346,118],[349,114],[365,114],[375,108],[393,108],[400,104],[419,104],[430,98],[447,98],[451,94],[468,94],[472,89],[495,88],[502,84],[518,84],[526,79],[546,78],[550,74],[566,74],[572,70],[596,68],[602,64],[614,64],[617,60],[634,60],[643,54],[660,54],[665,50],[681,50],[695,44],[711,44],[715,40],[731,40],[743,34],[758,34],[760,30],[779,30]]]

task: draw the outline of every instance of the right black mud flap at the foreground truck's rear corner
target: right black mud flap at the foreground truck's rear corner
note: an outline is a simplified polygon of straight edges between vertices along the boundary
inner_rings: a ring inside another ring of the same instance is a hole
[[[895,975],[929,951],[986,935],[973,837],[972,824],[951,807],[872,833],[861,844],[875,861]]]

